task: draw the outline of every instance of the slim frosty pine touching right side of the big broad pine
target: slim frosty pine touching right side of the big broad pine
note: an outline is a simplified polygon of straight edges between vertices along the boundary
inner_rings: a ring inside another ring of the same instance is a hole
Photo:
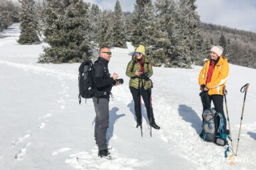
[[[99,28],[101,25],[101,16],[102,12],[101,9],[99,9],[99,6],[94,4],[91,5],[91,36],[94,42],[99,43]]]

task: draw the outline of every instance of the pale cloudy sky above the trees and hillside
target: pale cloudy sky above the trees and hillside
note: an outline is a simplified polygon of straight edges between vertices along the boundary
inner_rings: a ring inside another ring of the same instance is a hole
[[[114,10],[116,0],[84,0]],[[135,0],[119,0],[123,11],[133,11]],[[155,1],[155,0],[153,0]],[[256,33],[256,0],[197,0],[201,21]]]

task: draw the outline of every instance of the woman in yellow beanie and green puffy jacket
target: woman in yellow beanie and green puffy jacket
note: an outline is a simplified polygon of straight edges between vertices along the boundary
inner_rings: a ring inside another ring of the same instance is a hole
[[[155,129],[160,129],[160,127],[155,124],[151,104],[151,80],[149,80],[149,78],[153,75],[152,64],[145,54],[145,47],[143,45],[139,45],[139,47],[135,50],[133,59],[129,62],[127,66],[126,75],[131,78],[129,82],[129,88],[131,94],[133,95],[133,101],[135,106],[135,115],[137,118],[136,128],[141,126],[142,122],[142,96],[147,110],[147,118],[149,119],[149,124]]]

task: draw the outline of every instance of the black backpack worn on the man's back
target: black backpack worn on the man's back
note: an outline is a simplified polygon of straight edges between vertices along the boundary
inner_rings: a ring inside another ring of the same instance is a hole
[[[92,68],[93,68],[93,62],[91,60],[85,60],[79,66],[79,75],[78,75],[79,104],[81,104],[81,97],[85,99],[93,97]]]

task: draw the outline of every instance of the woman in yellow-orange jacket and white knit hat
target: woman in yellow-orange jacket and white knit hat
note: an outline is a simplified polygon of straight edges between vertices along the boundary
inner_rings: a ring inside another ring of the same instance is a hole
[[[227,120],[223,110],[223,86],[229,76],[229,63],[225,56],[221,56],[223,48],[213,46],[211,48],[211,58],[207,60],[199,74],[199,85],[202,90],[200,96],[203,110],[211,108],[213,101],[216,112],[223,116],[224,130],[227,129]]]

